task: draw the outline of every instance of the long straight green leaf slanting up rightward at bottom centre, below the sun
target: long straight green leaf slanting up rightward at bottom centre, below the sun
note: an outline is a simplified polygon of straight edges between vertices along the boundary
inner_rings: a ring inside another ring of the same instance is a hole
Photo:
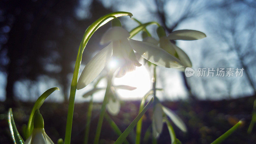
[[[132,121],[132,123],[126,128],[126,130],[122,133],[122,135],[116,140],[115,144],[121,144],[125,138],[129,135],[129,133],[132,131],[132,129],[135,127],[135,125],[138,123],[140,118],[144,115],[144,113],[148,110],[148,108],[151,106],[152,102],[154,100],[154,97],[152,97],[147,105],[142,109],[140,114],[136,116],[136,118]]]

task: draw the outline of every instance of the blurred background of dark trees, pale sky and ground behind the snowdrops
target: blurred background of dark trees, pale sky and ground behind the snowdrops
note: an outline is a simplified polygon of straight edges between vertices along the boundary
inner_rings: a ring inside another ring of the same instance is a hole
[[[201,40],[176,41],[190,57],[195,72],[198,68],[244,68],[242,77],[202,77],[196,74],[185,77],[179,70],[157,67],[156,85],[164,88],[163,92],[157,92],[157,96],[165,106],[175,110],[188,126],[186,134],[174,127],[178,139],[184,143],[210,143],[236,121],[244,118],[243,128],[228,143],[255,142],[256,135],[246,133],[256,93],[255,0],[2,0],[0,140],[3,143],[11,143],[6,122],[7,109],[14,108],[14,120],[21,131],[22,124],[27,124],[35,100],[51,87],[59,87],[60,91],[54,92],[41,108],[45,131],[54,142],[58,138],[64,139],[70,83],[80,41],[93,21],[115,11],[131,12],[142,23],[157,21],[167,33],[178,29],[204,32],[207,37]],[[120,20],[128,31],[138,26],[128,16]],[[109,22],[98,29],[89,40],[84,50],[81,71],[103,48],[99,41],[110,27]],[[157,26],[147,28],[157,38]],[[140,34],[133,39],[142,40]],[[114,84],[137,87],[134,91],[117,91],[123,104],[121,112],[113,119],[121,131],[137,116],[142,96],[151,89],[151,77],[152,68],[141,66],[136,71],[114,80]],[[99,86],[106,86],[106,81],[102,80]],[[92,87],[93,84],[77,91],[73,143],[83,141],[83,137],[80,137],[84,134],[81,125],[85,123],[88,99],[84,99],[82,95]],[[92,138],[103,96],[104,92],[93,96],[95,124],[91,125]],[[151,113],[152,110],[149,110],[145,116],[144,133],[150,124]],[[54,123],[53,119],[60,121]],[[108,124],[103,123],[102,143],[111,143],[118,138],[109,136],[109,131],[111,128]],[[132,134],[129,136],[129,142],[133,143]],[[165,127],[158,141],[170,143],[169,139]]]

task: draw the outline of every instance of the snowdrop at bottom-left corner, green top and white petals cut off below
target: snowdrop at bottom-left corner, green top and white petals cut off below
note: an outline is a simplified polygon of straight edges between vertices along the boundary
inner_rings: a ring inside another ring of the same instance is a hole
[[[34,129],[25,144],[54,144],[44,131],[44,119],[37,109],[34,117]]]

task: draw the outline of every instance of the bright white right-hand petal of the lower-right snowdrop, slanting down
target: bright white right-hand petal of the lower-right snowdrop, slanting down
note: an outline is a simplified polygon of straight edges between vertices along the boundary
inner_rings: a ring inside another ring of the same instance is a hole
[[[166,107],[162,107],[164,113],[172,120],[172,122],[178,127],[180,128],[181,131],[183,132],[187,132],[187,128],[186,125],[183,123],[183,121],[181,120],[181,118],[179,116],[177,116],[171,109],[166,108]]]

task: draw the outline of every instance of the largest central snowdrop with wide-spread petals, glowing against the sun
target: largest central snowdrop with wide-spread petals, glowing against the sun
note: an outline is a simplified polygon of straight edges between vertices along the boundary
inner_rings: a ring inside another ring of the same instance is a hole
[[[180,68],[183,66],[179,59],[156,45],[133,40],[128,38],[129,36],[129,32],[122,28],[121,22],[118,19],[113,19],[112,28],[104,33],[100,41],[100,44],[108,44],[108,46],[98,52],[85,66],[78,79],[77,90],[90,84],[100,74],[111,57],[118,61],[121,75],[134,70],[136,66],[141,66],[134,51],[144,59],[162,67]]]

